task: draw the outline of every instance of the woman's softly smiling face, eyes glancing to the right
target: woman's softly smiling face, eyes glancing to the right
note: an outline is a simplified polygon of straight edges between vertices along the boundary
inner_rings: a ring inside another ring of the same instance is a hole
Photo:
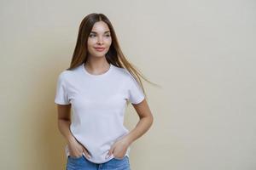
[[[88,52],[93,57],[103,57],[108,53],[112,38],[108,25],[103,21],[94,24],[87,41]]]

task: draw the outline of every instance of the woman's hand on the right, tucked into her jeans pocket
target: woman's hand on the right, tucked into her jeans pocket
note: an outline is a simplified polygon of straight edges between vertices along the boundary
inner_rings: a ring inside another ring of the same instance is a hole
[[[123,158],[125,156],[126,150],[129,147],[129,142],[127,141],[127,139],[120,139],[118,141],[116,141],[110,148],[110,150],[108,151],[108,156],[111,156],[113,154],[114,157],[116,158]]]

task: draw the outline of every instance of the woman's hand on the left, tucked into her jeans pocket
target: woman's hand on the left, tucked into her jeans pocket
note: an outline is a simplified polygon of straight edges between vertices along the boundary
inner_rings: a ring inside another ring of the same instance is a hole
[[[84,155],[90,159],[90,154],[86,148],[82,144],[80,144],[76,139],[73,139],[71,142],[68,144],[68,150],[69,150],[69,155],[73,157],[80,157]]]

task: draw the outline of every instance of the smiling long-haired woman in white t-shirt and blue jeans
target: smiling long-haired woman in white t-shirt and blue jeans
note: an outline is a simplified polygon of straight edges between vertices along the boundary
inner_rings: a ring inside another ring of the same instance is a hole
[[[122,54],[108,18],[87,15],[55,94],[58,127],[67,140],[67,170],[130,169],[130,145],[153,123],[139,76]],[[128,102],[140,118],[131,132],[123,125]]]

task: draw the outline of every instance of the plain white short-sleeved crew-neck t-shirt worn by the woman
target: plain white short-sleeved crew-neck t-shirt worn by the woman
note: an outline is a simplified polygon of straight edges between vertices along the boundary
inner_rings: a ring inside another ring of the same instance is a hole
[[[107,72],[92,75],[79,65],[62,71],[58,77],[55,104],[72,105],[70,130],[89,150],[94,163],[103,163],[113,143],[129,130],[124,126],[126,100],[138,104],[144,99],[142,88],[124,68],[110,64]],[[66,145],[66,156],[69,150]],[[125,156],[129,156],[128,147]],[[84,153],[83,153],[84,154]]]

